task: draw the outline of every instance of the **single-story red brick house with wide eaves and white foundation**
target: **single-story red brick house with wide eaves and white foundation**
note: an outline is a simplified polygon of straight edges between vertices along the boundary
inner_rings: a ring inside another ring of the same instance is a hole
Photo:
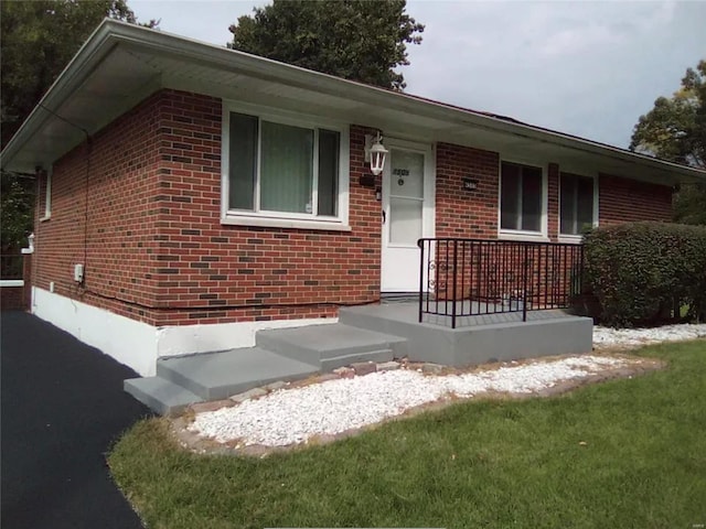
[[[389,151],[371,176],[366,136]],[[106,20],[2,152],[36,174],[32,311],[157,358],[419,284],[419,237],[668,220],[696,170]]]

